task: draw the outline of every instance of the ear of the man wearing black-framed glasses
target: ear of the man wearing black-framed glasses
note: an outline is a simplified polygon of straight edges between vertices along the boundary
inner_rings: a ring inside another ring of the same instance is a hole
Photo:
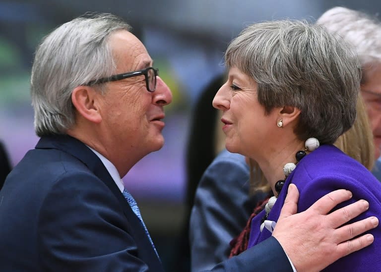
[[[97,103],[99,94],[89,86],[78,86],[71,93],[71,102],[83,118],[100,123],[102,116]]]

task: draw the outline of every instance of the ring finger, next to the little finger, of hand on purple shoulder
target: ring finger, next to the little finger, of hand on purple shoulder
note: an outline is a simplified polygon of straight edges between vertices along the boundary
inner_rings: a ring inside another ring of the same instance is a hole
[[[334,230],[335,242],[340,244],[347,240],[350,240],[357,235],[364,233],[365,231],[371,230],[377,227],[379,224],[379,219],[376,217],[369,217],[361,221],[354,222],[349,225],[342,226]]]

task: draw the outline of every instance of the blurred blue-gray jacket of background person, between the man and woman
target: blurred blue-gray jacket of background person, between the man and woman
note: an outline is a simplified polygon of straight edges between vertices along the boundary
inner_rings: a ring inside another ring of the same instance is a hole
[[[249,198],[249,172],[244,156],[225,149],[202,175],[189,228],[192,272],[228,259],[230,241],[244,229],[256,202],[266,197]]]

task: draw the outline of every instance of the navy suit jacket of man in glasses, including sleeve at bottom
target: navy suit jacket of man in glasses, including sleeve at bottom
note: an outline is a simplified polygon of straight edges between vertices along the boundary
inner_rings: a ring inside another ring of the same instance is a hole
[[[1,272],[163,271],[103,163],[70,136],[42,137],[14,167],[0,223]],[[266,262],[290,271],[274,238],[213,271],[262,271]]]

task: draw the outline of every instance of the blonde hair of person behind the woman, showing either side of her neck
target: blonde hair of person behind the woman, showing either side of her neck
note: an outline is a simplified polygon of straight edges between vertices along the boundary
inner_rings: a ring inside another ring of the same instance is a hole
[[[375,147],[372,129],[361,94],[358,95],[356,109],[357,116],[353,126],[340,135],[334,145],[348,156],[363,164],[368,170],[371,170],[375,163]],[[258,190],[270,192],[271,187],[262,174],[258,163],[250,159],[249,165],[250,195],[253,195]]]

